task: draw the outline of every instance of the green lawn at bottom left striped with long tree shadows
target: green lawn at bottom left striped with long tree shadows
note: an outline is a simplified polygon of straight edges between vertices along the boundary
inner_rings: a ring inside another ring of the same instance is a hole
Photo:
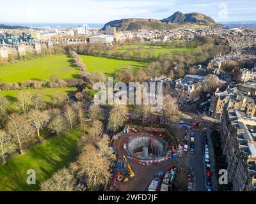
[[[0,191],[38,191],[40,182],[76,160],[81,135],[77,129],[66,131],[25,150],[23,155],[11,156],[6,164],[0,164]],[[26,183],[29,169],[36,171],[35,185]]]

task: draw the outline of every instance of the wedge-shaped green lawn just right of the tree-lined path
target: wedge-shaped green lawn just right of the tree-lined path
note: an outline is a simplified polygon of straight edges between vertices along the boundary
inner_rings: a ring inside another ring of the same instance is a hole
[[[84,64],[86,64],[86,71],[102,71],[108,77],[110,77],[113,72],[118,71],[120,69],[130,67],[134,69],[134,71],[136,71],[140,67],[148,66],[147,62],[125,61],[121,59],[109,59],[106,57],[95,57],[89,55],[80,55],[80,57],[82,57]]]

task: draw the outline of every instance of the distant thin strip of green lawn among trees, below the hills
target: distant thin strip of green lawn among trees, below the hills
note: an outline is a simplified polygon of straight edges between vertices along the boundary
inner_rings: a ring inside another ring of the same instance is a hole
[[[182,47],[172,47],[172,46],[161,46],[161,45],[147,45],[147,44],[138,44],[138,45],[124,45],[118,47],[119,52],[126,52],[126,51],[132,51],[132,50],[138,50],[138,48],[143,48],[143,53],[145,52],[152,52],[154,53],[154,56],[157,57],[159,54],[167,54],[167,53],[173,53],[173,52],[193,52],[195,50],[194,47],[191,48],[182,48]]]

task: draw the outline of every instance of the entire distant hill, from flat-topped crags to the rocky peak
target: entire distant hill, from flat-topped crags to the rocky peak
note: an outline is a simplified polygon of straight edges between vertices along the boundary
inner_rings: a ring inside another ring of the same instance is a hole
[[[211,17],[207,17],[201,13],[183,14],[178,11],[163,20],[151,18],[124,18],[120,20],[113,20],[105,24],[102,30],[105,31],[106,26],[108,25],[116,27],[119,31],[136,31],[138,29],[164,30],[180,27],[180,24],[212,25],[215,24],[215,22]]]

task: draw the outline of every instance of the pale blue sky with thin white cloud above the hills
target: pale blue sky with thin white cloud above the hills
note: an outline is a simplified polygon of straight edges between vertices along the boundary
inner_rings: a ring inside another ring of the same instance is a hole
[[[256,20],[255,0],[8,0],[0,22],[104,24],[120,18],[169,17],[175,11],[200,12],[216,22]]]

